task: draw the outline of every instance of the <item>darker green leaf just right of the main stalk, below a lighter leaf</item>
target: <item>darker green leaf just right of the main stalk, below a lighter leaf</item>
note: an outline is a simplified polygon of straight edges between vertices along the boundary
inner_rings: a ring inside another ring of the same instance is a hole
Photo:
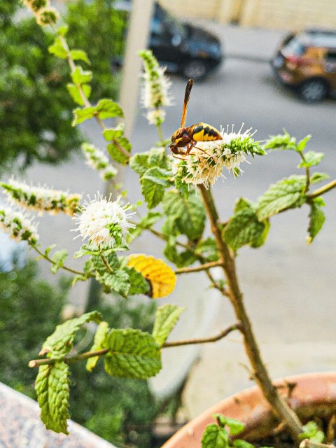
[[[225,242],[229,244],[233,251],[237,251],[245,244],[252,247],[260,246],[265,241],[269,229],[264,221],[260,222],[258,220],[254,207],[248,202],[244,203],[246,207],[243,207],[243,202],[240,200],[236,207],[238,211],[223,230]]]

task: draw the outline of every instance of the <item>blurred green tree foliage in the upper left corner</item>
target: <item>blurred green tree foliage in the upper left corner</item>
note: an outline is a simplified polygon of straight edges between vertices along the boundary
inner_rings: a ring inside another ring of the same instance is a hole
[[[109,1],[69,3],[69,43],[86,50],[97,75],[92,101],[115,97],[111,59],[123,50],[123,13]],[[18,15],[17,13],[20,13]],[[76,37],[75,37],[76,36]],[[34,18],[22,18],[20,0],[0,2],[0,174],[25,168],[34,160],[58,163],[69,158],[83,140],[71,126],[73,100],[66,90],[67,62],[50,55],[53,35]]]

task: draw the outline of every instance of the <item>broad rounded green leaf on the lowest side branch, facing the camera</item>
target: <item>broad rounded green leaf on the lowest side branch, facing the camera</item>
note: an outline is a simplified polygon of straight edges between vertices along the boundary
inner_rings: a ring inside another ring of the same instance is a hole
[[[146,379],[161,370],[160,346],[146,332],[113,329],[106,348],[105,370],[113,377]]]

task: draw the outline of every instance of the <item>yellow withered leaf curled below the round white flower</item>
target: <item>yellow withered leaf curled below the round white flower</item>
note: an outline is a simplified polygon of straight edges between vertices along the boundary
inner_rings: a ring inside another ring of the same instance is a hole
[[[134,267],[151,283],[151,297],[158,299],[174,291],[176,275],[171,267],[153,255],[134,253],[129,256],[128,267]]]

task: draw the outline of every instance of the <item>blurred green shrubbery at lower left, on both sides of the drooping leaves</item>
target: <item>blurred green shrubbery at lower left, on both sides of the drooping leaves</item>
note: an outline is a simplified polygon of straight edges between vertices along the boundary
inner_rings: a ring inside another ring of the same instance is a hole
[[[40,279],[37,267],[29,260],[22,269],[0,272],[0,381],[31,398],[36,397],[36,369],[27,367],[28,362],[38,358],[41,345],[61,322],[69,288],[66,279],[58,286]],[[102,297],[99,302],[98,309],[111,327],[152,330],[153,300],[138,302],[110,295],[109,302]],[[82,330],[74,348],[85,351],[91,344],[90,330]],[[71,419],[118,446],[151,445],[158,404],[147,381],[110,377],[101,359],[92,373],[83,363],[71,364],[71,384]]]

